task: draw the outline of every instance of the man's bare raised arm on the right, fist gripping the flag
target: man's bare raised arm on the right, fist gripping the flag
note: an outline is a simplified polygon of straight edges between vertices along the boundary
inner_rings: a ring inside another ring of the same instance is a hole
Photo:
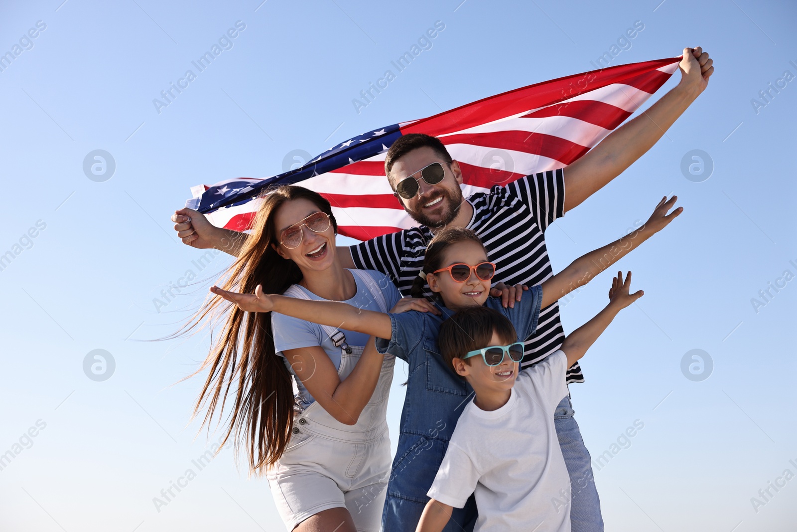
[[[681,82],[646,112],[624,124],[564,172],[564,211],[579,206],[638,160],[709,85],[713,59],[700,46],[685,48]]]

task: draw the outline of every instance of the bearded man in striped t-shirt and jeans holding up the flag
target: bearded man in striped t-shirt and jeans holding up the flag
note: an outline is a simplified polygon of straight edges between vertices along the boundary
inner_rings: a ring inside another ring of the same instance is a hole
[[[506,187],[493,187],[489,193],[477,193],[468,199],[461,193],[461,168],[439,140],[418,134],[400,137],[387,152],[385,172],[398,202],[420,226],[341,249],[346,266],[382,271],[391,276],[402,294],[409,295],[421,270],[426,243],[434,231],[446,226],[468,227],[481,237],[490,259],[496,263],[497,282],[508,286],[540,284],[552,275],[544,241],[548,225],[647,152],[705,90],[714,71],[713,60],[700,47],[684,49],[679,67],[681,82],[677,87],[641,116],[612,132],[566,171],[528,175]],[[442,180],[436,182],[438,166],[442,167]],[[423,175],[435,183],[427,183]],[[196,248],[214,247],[237,254],[246,237],[213,227],[203,215],[190,209],[176,211],[172,221],[183,242]],[[519,292],[516,297],[520,298]],[[558,304],[541,310],[539,324],[536,333],[525,342],[523,368],[548,357],[562,344],[564,333]],[[578,363],[567,370],[567,383],[571,382],[583,382]],[[559,445],[571,478],[572,530],[603,530],[591,458],[573,418],[569,397],[559,404],[555,416]],[[424,503],[416,511],[418,502],[391,496],[388,486],[384,530],[406,528],[412,515],[417,513],[420,517]],[[463,525],[470,530],[473,522],[450,523],[452,530]]]

